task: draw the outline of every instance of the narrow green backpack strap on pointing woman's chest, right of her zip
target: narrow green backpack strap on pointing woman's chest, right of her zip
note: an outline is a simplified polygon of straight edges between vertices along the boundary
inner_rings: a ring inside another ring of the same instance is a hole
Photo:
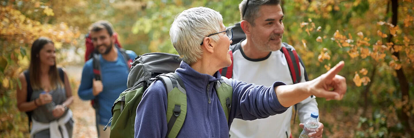
[[[223,107],[224,114],[226,114],[227,122],[229,122],[231,99],[233,96],[231,81],[227,77],[221,76],[221,79],[216,82],[214,88],[216,89],[217,97],[219,97],[221,107]]]

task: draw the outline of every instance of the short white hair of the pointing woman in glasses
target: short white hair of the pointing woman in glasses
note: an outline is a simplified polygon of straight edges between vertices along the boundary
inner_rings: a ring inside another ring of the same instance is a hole
[[[193,7],[184,10],[171,24],[171,43],[185,63],[195,63],[203,53],[200,43],[209,34],[219,32],[221,24],[221,14],[210,8]],[[219,35],[209,37],[215,42],[219,41]]]

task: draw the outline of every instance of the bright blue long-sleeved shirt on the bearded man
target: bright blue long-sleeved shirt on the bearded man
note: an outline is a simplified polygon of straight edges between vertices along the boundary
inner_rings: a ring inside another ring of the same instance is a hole
[[[132,60],[137,54],[133,51],[125,51]],[[79,86],[78,94],[83,100],[95,99],[92,93],[92,81],[94,79],[92,62],[87,61],[82,70],[82,80]],[[103,90],[96,95],[99,100],[99,109],[97,115],[99,116],[99,124],[106,125],[112,117],[113,102],[119,97],[119,94],[127,89],[127,79],[129,68],[125,63],[123,55],[118,50],[118,58],[116,61],[106,61],[99,56],[99,63],[101,65],[101,80]]]

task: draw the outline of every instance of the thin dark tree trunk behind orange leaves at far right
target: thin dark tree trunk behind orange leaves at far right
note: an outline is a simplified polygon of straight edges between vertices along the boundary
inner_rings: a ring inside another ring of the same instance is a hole
[[[398,0],[391,0],[391,6],[392,6],[392,21],[391,23],[396,26],[397,25],[397,17],[398,17]],[[390,34],[388,37],[388,41],[392,42],[392,35]],[[400,59],[400,53],[399,52],[394,52],[392,53],[394,56],[396,56],[398,59]],[[397,77],[398,77],[398,82],[400,83],[400,89],[401,89],[401,101],[404,101],[404,97],[407,97],[409,99],[409,85],[407,82],[407,77],[405,77],[404,72],[402,70],[402,68],[400,68],[400,70],[395,70],[395,72],[397,73]],[[407,99],[407,100],[408,100]],[[407,115],[407,113],[404,111],[404,108],[407,108],[407,104],[404,104],[402,106],[401,112],[400,112],[400,119],[402,124],[404,124],[405,126],[405,131],[407,133],[412,133],[412,129],[409,125],[409,117]]]

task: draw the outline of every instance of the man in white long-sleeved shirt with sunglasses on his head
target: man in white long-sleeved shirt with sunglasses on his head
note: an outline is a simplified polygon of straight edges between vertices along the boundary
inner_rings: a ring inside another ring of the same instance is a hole
[[[294,54],[291,52],[291,55],[295,56],[296,54],[297,57],[296,59],[291,58],[292,56],[286,53],[294,51],[294,48],[282,43],[284,15],[280,0],[243,0],[239,5],[239,10],[242,20],[240,27],[246,34],[246,39],[231,46],[233,68],[232,72],[230,70],[232,75],[228,77],[265,86],[272,85],[271,81],[282,81],[287,85],[306,82],[306,70],[300,57],[296,52]],[[284,52],[284,49],[281,50],[281,48],[290,48],[290,51]],[[299,60],[301,64],[299,61],[294,62],[293,60]],[[274,71],[277,73],[271,73]],[[302,122],[299,126],[302,128],[303,123],[310,118],[312,112],[319,112],[315,96],[309,96],[297,104],[295,103],[294,107],[295,116],[298,112]],[[292,109],[293,106],[282,114],[266,119],[253,121],[234,119],[230,128],[230,137],[289,138],[291,137]],[[310,133],[309,137],[321,138],[322,132],[323,124],[319,123],[316,133]]]

